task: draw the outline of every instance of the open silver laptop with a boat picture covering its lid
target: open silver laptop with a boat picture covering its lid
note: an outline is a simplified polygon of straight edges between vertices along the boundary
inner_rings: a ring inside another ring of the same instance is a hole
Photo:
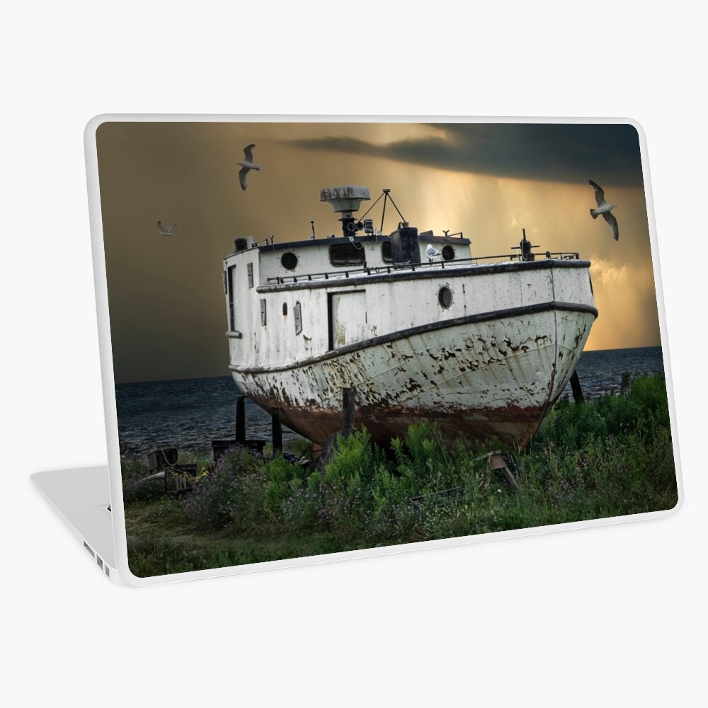
[[[33,481],[142,586],[680,507],[624,119],[101,115],[106,467]]]

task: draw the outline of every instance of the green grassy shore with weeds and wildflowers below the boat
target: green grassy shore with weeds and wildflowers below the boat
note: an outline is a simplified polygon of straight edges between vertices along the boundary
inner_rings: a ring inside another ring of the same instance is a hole
[[[520,489],[486,468],[502,449]],[[366,430],[341,440],[324,471],[235,449],[181,498],[123,460],[130,568],[137,576],[667,510],[678,502],[661,375],[619,396],[559,401],[524,450],[444,445],[426,423],[389,450]],[[443,493],[441,493],[443,492]]]

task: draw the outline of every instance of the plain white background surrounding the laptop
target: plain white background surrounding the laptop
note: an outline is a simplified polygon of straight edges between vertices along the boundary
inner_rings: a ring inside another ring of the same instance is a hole
[[[704,26],[683,2],[253,5],[4,11],[0,696],[77,707],[702,704]],[[105,581],[29,481],[105,462],[82,142],[98,113],[638,120],[683,508],[141,590]]]

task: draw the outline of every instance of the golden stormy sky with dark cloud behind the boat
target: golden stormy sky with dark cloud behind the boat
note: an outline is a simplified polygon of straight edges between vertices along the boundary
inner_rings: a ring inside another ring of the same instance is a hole
[[[249,188],[243,149],[255,143]],[[539,251],[592,261],[600,316],[586,350],[660,344],[649,227],[630,125],[104,122],[96,130],[116,382],[228,375],[222,259],[238,236],[338,234],[327,186],[391,189],[420,231],[462,231],[472,255]],[[619,223],[612,239],[588,178]],[[377,205],[371,215],[380,225]],[[173,236],[156,222],[177,223]],[[399,221],[390,205],[384,232]]]

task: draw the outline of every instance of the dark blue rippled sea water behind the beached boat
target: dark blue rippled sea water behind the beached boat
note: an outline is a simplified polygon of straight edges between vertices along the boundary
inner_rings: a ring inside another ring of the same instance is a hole
[[[661,347],[583,352],[576,371],[587,400],[617,394],[624,372],[633,377],[663,372]],[[234,440],[238,395],[230,376],[118,384],[120,451],[209,449],[212,440]],[[570,384],[562,397],[571,397]],[[270,414],[246,399],[246,438],[270,441],[270,426]],[[299,437],[282,426],[284,443]]]

